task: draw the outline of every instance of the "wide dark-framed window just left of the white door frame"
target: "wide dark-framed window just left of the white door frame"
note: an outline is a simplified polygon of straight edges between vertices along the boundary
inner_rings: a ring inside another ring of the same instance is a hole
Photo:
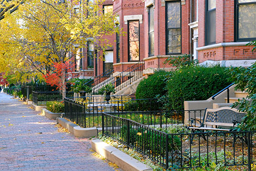
[[[166,2],[166,53],[181,53],[180,1]]]

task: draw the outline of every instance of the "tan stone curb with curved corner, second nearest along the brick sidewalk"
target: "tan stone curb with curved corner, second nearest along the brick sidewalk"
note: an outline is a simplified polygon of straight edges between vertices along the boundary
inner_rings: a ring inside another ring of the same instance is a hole
[[[75,137],[89,138],[89,137],[97,136],[98,131],[96,127],[81,128],[64,118],[57,118],[57,123],[62,125],[62,127],[67,128],[73,135],[75,135]]]

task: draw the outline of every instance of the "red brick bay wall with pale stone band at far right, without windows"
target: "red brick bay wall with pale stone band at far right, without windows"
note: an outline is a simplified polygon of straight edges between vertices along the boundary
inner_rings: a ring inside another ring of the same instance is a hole
[[[198,0],[198,60],[227,61],[256,59],[252,46],[248,42],[235,41],[235,2],[233,0],[216,1],[216,43],[205,45],[205,0]],[[256,10],[256,9],[255,9]]]

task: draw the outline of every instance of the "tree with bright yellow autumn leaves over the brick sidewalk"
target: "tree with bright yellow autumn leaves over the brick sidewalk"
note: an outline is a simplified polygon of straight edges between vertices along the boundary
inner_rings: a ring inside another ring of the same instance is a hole
[[[70,52],[88,41],[105,52],[111,44],[102,36],[119,32],[115,16],[102,14],[103,1],[94,3],[30,0],[1,21],[0,72],[14,74],[21,82],[54,73],[53,64],[65,64]],[[8,67],[6,67],[8,66]],[[60,91],[65,96],[66,71],[62,71]]]

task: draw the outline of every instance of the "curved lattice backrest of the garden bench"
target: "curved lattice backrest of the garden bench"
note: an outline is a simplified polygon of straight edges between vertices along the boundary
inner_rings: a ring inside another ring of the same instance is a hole
[[[218,109],[206,109],[203,125],[233,127],[234,121],[242,122],[245,113],[238,112],[237,109],[222,107]]]

